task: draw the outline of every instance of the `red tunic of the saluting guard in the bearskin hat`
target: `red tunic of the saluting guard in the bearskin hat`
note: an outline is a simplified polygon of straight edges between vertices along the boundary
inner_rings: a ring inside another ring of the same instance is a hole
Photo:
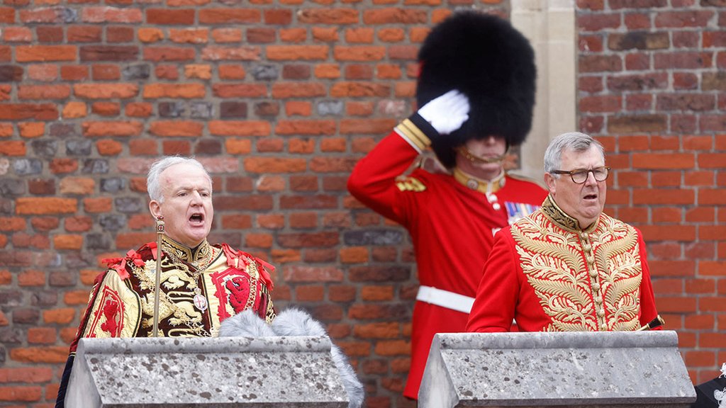
[[[448,174],[423,169],[402,178],[419,151],[396,132],[386,136],[356,165],[348,190],[362,203],[403,225],[411,235],[420,285],[472,297],[492,248],[493,230],[534,211],[547,192],[531,181],[503,178],[492,198]],[[492,200],[492,203],[489,201]],[[498,207],[494,209],[493,203]],[[423,370],[437,332],[465,331],[468,314],[431,303],[415,303],[411,369],[404,396],[417,399]]]

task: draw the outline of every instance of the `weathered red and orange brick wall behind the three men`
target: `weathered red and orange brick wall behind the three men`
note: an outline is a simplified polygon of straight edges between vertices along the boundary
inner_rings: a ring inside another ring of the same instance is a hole
[[[0,0],[0,406],[52,405],[99,259],[153,239],[144,172],[179,153],[213,173],[211,241],[278,266],[277,305],[327,323],[368,407],[412,407],[412,248],[345,183],[411,112],[428,28],[471,4]],[[616,168],[608,212],[643,229],[658,307],[693,380],[712,378],[726,1],[576,4],[580,127]]]

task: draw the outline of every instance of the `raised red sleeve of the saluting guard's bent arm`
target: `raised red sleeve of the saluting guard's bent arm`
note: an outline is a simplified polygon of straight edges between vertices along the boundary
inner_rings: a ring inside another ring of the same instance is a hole
[[[391,132],[356,164],[348,179],[348,191],[373,211],[405,224],[407,203],[396,187],[396,177],[404,174],[418,155],[403,137]]]

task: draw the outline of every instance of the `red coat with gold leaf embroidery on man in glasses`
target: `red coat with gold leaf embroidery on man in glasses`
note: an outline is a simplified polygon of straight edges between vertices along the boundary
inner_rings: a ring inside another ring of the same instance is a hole
[[[580,229],[547,197],[495,237],[467,330],[637,330],[657,314],[640,231],[604,213]]]

